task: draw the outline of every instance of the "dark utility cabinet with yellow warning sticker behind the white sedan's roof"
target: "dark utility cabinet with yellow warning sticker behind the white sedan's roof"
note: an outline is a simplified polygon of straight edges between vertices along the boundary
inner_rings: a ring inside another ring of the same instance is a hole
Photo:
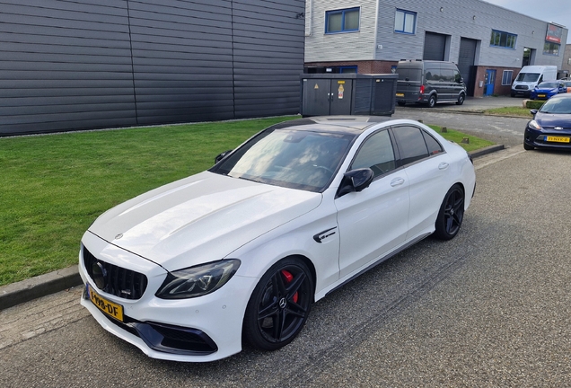
[[[302,116],[391,116],[399,75],[303,74]]]

